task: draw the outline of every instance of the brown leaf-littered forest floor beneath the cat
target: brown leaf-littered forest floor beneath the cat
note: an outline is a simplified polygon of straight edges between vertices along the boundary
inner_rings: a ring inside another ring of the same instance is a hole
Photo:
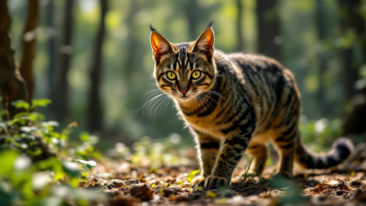
[[[276,165],[266,166],[261,177],[244,183],[235,170],[230,187],[214,190],[191,188],[187,173],[197,166],[136,168],[126,161],[98,163],[82,187],[108,194],[108,205],[366,205],[366,146],[337,168],[304,170],[295,167],[294,178],[273,177]],[[243,168],[240,168],[243,166]],[[198,174],[197,174],[198,175]]]

